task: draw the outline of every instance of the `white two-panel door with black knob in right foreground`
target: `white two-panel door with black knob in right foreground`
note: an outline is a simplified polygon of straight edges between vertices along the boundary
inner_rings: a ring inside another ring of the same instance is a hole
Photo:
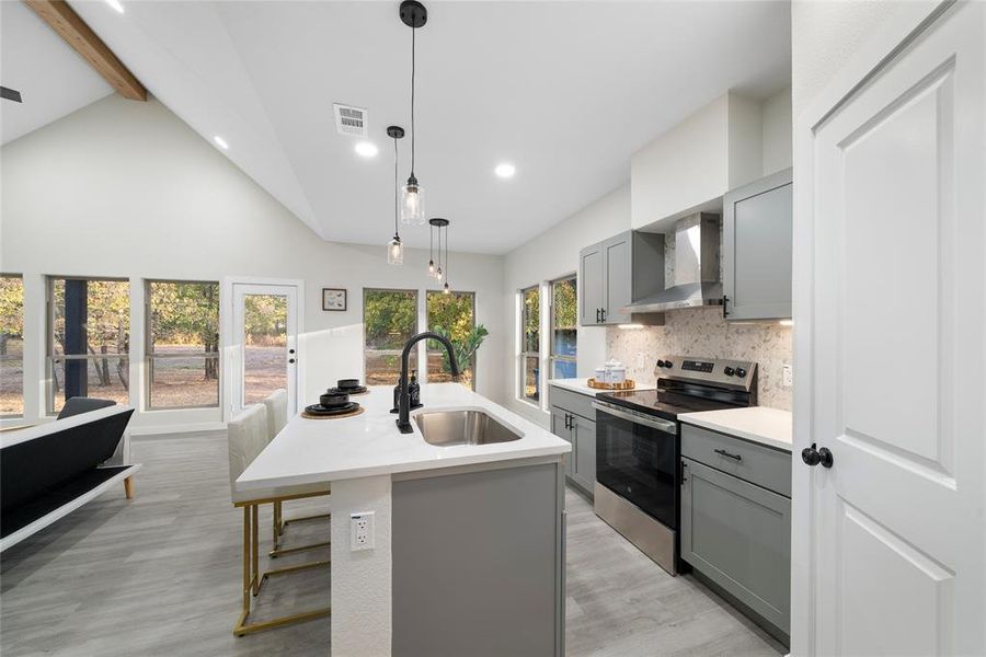
[[[795,654],[986,655],[984,26],[948,9],[799,150],[796,442],[834,463],[795,454]]]

